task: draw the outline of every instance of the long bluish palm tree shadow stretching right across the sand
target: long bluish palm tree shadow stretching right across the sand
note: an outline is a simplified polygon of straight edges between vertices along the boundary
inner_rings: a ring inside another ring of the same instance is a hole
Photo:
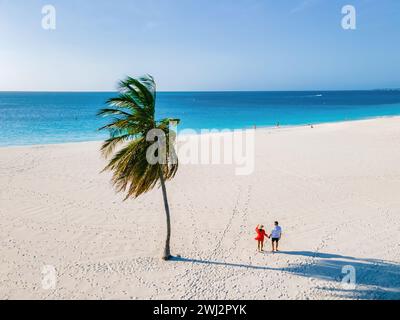
[[[174,257],[173,261],[241,268],[259,271],[280,271],[314,280],[320,290],[344,299],[400,299],[400,264],[379,259],[355,258],[339,254],[311,251],[281,251],[277,254],[313,258],[310,263],[293,264],[284,268],[201,259]],[[355,287],[342,285],[349,270],[354,270]]]

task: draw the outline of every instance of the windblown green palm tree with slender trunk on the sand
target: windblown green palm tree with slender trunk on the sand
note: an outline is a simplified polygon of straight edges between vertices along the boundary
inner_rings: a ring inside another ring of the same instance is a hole
[[[99,130],[110,133],[110,138],[101,148],[103,156],[111,158],[103,171],[113,172],[112,183],[118,192],[126,193],[125,200],[139,197],[160,182],[167,220],[163,259],[169,260],[171,216],[165,182],[172,179],[178,170],[178,158],[173,146],[176,134],[170,129],[170,123],[178,123],[179,120],[156,121],[155,103],[156,84],[153,77],[127,77],[119,83],[119,95],[107,101],[109,108],[98,113],[99,116],[112,117],[111,122]],[[156,133],[153,139],[149,139],[151,132]],[[152,150],[153,155],[163,161],[149,161]]]

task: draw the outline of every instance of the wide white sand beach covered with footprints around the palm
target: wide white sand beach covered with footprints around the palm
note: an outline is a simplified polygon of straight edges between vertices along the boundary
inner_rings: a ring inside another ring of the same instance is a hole
[[[258,129],[249,176],[180,166],[171,262],[161,191],[122,202],[99,148],[0,148],[1,299],[400,299],[399,117]],[[282,251],[257,252],[275,220]]]

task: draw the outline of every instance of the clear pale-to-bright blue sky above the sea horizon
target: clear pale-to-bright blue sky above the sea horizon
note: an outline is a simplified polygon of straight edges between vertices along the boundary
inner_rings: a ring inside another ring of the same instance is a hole
[[[0,0],[0,41],[1,91],[107,91],[143,73],[165,91],[400,87],[398,0]]]

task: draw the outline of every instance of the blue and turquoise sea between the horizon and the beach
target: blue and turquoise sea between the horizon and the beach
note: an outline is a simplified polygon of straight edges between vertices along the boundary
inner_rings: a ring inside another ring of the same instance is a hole
[[[101,140],[101,93],[0,93],[0,146]],[[159,118],[181,129],[304,125],[400,115],[400,91],[161,92]]]

